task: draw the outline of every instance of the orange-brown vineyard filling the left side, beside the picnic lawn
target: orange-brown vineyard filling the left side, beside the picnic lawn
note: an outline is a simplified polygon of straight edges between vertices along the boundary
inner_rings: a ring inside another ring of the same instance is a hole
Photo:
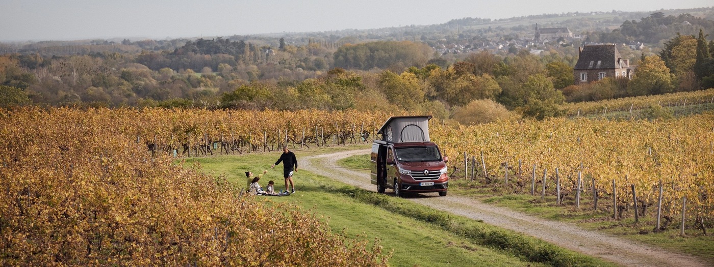
[[[233,115],[235,132],[239,126],[251,135],[285,114],[266,112],[266,121]],[[332,234],[293,207],[265,206],[136,142],[213,136],[227,124],[212,123],[229,117],[1,110],[0,266],[386,266],[381,246]]]

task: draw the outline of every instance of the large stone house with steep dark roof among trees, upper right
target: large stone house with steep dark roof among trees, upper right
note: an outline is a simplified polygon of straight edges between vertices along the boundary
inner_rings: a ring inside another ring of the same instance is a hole
[[[620,56],[614,44],[578,48],[578,63],[573,67],[575,85],[602,80],[605,77],[632,78],[630,61]]]

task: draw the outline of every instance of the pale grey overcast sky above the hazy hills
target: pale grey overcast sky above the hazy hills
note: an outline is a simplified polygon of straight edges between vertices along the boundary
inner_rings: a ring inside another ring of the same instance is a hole
[[[711,0],[0,0],[0,41],[181,38],[712,6]]]

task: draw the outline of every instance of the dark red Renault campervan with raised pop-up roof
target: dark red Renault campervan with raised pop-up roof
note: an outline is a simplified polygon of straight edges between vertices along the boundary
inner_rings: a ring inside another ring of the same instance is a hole
[[[429,140],[431,116],[390,117],[377,132],[371,153],[371,182],[377,192],[393,189],[398,197],[410,192],[446,196],[448,174],[439,147]]]

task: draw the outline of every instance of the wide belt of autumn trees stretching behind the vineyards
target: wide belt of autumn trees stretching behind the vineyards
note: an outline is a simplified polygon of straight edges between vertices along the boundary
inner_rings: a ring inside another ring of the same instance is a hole
[[[714,41],[703,30],[675,36],[658,55],[643,54],[633,80],[585,85],[573,85],[570,60],[557,53],[481,51],[448,64],[425,44],[410,41],[346,44],[333,52],[320,42],[279,43],[273,49],[218,38],[187,41],[174,51],[51,58],[13,53],[0,56],[0,84],[4,105],[406,110],[437,117],[482,110],[495,118],[551,117],[563,114],[559,106],[565,101],[714,85]]]

